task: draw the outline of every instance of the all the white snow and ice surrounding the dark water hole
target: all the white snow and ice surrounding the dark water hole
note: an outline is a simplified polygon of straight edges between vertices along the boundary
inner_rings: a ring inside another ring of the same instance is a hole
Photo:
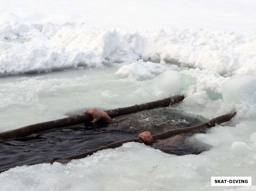
[[[177,109],[237,115],[186,139],[210,148],[199,155],[127,143],[66,165],[13,168],[0,174],[0,190],[256,190],[210,185],[211,176],[252,176],[256,185],[254,7],[234,0],[1,2],[0,131],[179,93],[187,97]]]

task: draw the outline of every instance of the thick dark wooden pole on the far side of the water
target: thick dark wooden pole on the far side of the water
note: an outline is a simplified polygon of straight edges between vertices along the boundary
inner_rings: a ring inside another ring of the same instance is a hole
[[[143,110],[154,109],[157,107],[168,107],[174,103],[178,103],[182,101],[184,98],[185,98],[184,95],[175,95],[169,98],[160,99],[160,100],[152,101],[148,103],[143,103],[140,105],[110,109],[110,110],[106,110],[105,112],[111,118],[114,118],[117,116],[136,113]],[[33,133],[38,133],[38,132],[47,131],[47,130],[56,129],[56,128],[68,127],[72,125],[81,124],[86,121],[90,122],[92,120],[93,118],[90,114],[82,114],[82,115],[76,115],[76,116],[66,117],[62,119],[57,119],[53,121],[36,123],[33,125],[21,127],[19,129],[13,129],[13,130],[1,132],[0,139],[28,136]]]

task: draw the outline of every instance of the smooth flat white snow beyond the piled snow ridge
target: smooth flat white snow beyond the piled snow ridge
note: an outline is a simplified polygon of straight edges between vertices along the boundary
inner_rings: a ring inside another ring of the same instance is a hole
[[[252,0],[162,1],[1,1],[0,11],[11,11],[33,23],[86,21],[105,28],[256,30]]]

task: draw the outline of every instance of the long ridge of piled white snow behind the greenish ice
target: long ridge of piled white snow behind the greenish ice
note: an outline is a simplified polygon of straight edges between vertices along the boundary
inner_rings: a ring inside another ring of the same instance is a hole
[[[0,13],[0,24],[1,76],[102,67],[105,63],[138,59],[178,60],[225,76],[256,75],[255,33],[174,28],[150,32],[105,30],[71,22],[31,24],[6,12]],[[150,79],[153,74],[149,73]]]

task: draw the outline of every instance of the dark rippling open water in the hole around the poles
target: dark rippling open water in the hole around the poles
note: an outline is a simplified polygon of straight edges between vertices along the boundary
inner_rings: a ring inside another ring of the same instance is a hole
[[[158,108],[118,117],[115,121],[116,123],[111,124],[86,123],[29,137],[0,140],[0,170],[90,151],[101,145],[138,137],[142,131],[156,134],[196,125],[207,119],[172,108]],[[198,130],[158,140],[151,146],[170,154],[198,154],[205,151],[205,146],[195,146],[185,141],[195,133],[204,132]]]

